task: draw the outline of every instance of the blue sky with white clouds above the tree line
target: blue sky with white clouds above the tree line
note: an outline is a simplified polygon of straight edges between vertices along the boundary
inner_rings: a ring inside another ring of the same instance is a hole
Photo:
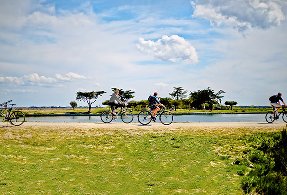
[[[287,97],[285,0],[0,2],[0,102],[68,106],[77,91],[224,90],[223,102]],[[85,102],[77,102],[86,106]]]

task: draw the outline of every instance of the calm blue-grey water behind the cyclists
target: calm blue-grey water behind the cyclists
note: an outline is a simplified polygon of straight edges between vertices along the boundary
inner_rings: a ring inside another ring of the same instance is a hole
[[[173,115],[173,122],[265,122],[264,113],[259,114],[199,114]],[[159,116],[157,117],[159,120]],[[281,116],[279,121],[282,120]],[[56,117],[26,117],[28,122],[102,122],[100,116],[56,116]],[[116,121],[122,122],[120,116]],[[138,122],[134,115],[133,122]]]

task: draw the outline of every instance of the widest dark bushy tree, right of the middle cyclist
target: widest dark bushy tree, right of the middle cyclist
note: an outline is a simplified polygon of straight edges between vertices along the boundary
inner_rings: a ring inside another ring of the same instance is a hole
[[[212,105],[218,103],[216,100],[221,102],[223,96],[220,94],[225,93],[223,90],[219,90],[217,93],[214,93],[214,90],[208,87],[204,90],[198,90],[197,92],[191,92],[190,98],[193,100],[192,105],[196,108],[201,107],[203,103],[207,103],[210,105],[210,109],[212,110]]]

